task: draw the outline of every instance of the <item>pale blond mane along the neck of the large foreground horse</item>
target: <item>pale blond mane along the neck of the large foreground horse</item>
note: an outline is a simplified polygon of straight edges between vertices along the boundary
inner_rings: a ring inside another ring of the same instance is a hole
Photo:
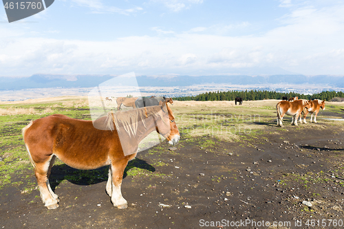
[[[107,112],[107,119],[105,120],[106,129],[112,131],[115,129],[115,125],[118,132],[124,129],[129,134],[129,136],[136,135],[136,132],[138,131],[138,122],[142,122],[144,127],[146,127],[147,116],[162,118],[163,122],[165,122],[160,111],[160,106],[143,107],[140,109],[132,109],[129,111],[122,111],[117,113],[109,111]]]

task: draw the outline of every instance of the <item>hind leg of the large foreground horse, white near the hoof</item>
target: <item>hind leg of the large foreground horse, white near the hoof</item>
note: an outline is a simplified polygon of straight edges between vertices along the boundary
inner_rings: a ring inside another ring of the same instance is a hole
[[[50,193],[51,188],[48,188],[48,186],[50,187],[50,184],[47,179],[47,175],[51,168],[50,162],[52,161],[52,157],[54,157],[54,155],[50,155],[46,160],[43,160],[43,162],[34,163],[34,175],[36,176],[37,183],[39,184],[41,199],[48,209],[58,208],[57,195],[53,196],[52,193]]]

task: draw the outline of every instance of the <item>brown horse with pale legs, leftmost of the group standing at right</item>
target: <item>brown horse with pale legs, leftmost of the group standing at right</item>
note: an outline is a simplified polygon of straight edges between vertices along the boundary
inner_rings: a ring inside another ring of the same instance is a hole
[[[276,105],[277,111],[277,126],[283,127],[283,117],[285,114],[292,116],[292,124],[297,125],[297,119],[303,111],[303,108],[309,107],[309,102],[307,100],[294,100],[289,101],[280,101]]]

